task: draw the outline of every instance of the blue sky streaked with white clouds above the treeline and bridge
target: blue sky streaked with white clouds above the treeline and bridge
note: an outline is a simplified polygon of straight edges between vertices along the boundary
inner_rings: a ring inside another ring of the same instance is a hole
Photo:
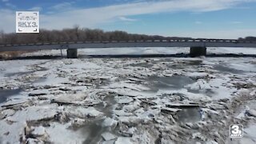
[[[256,0],[0,0],[0,30],[15,31],[15,11],[38,10],[40,28],[78,25],[193,38],[256,36]]]

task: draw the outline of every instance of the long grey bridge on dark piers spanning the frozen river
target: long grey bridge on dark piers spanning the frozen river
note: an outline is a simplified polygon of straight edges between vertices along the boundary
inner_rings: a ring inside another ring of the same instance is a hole
[[[122,48],[122,47],[190,47],[190,56],[206,55],[206,47],[248,47],[256,48],[256,42],[237,39],[174,39],[145,41],[107,41],[107,42],[43,42],[30,44],[0,45],[2,51],[20,50],[66,50],[67,58],[78,58],[78,49]]]

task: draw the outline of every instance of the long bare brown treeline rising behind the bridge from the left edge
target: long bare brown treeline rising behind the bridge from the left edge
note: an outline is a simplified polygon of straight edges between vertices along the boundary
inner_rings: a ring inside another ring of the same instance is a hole
[[[190,39],[162,37],[158,35],[128,34],[125,31],[103,31],[79,28],[63,30],[40,30],[39,34],[5,34],[0,31],[0,44],[27,44],[37,42],[102,42],[102,41],[139,41],[162,39]]]

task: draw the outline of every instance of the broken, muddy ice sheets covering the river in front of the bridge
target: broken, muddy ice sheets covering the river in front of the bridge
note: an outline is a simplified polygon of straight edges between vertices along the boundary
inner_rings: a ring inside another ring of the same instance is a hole
[[[0,63],[0,143],[256,142],[254,58]]]

